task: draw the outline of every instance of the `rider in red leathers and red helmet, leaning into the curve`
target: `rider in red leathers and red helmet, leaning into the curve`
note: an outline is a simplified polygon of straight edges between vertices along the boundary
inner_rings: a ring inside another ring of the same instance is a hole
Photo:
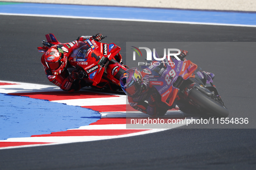
[[[81,83],[78,80],[79,70],[75,69],[75,65],[73,65],[74,61],[69,61],[68,59],[72,54],[74,55],[75,50],[84,45],[86,47],[86,39],[100,41],[102,38],[103,36],[101,34],[97,34],[94,36],[80,36],[77,40],[70,43],[51,44],[52,47],[41,57],[41,63],[44,66],[45,74],[49,81],[64,91],[74,92],[80,90]],[[83,47],[82,52],[85,54],[88,49],[89,47]],[[79,53],[76,55],[79,55]],[[71,73],[68,72],[68,67],[72,67],[73,71]]]

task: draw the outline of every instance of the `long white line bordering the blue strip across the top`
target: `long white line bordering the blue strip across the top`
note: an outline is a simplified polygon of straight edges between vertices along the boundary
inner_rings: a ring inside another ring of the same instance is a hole
[[[147,20],[147,19],[101,18],[101,17],[86,17],[86,16],[57,16],[57,15],[17,14],[17,13],[0,13],[0,15],[9,15],[9,16],[37,16],[37,17],[73,18],[73,19],[101,19],[101,20],[114,20],[114,21],[135,21],[135,22],[161,22],[161,23],[175,23],[175,24],[221,25],[221,26],[237,26],[237,27],[256,27],[256,25],[243,25],[243,24],[221,24],[221,23],[208,23],[208,22],[159,21],[159,20]]]

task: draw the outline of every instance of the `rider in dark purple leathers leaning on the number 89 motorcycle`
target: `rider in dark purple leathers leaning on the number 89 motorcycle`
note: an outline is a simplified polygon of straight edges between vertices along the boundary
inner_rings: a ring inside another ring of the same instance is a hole
[[[184,60],[187,54],[188,51],[181,50],[178,57]],[[126,70],[120,77],[120,85],[128,95],[130,106],[136,110],[151,116],[157,116],[171,109],[158,102],[161,101],[161,96],[156,88],[149,83],[149,74],[140,72],[138,68]]]

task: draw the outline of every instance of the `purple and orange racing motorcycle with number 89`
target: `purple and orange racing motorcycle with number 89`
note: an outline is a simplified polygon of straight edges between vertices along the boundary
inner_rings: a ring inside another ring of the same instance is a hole
[[[157,54],[156,57],[159,58]],[[167,60],[165,57],[161,63],[153,60],[151,66],[142,66],[142,69],[149,74],[149,83],[161,95],[159,116],[176,105],[184,113],[223,118],[229,115],[213,83],[214,74],[202,71],[190,60]]]

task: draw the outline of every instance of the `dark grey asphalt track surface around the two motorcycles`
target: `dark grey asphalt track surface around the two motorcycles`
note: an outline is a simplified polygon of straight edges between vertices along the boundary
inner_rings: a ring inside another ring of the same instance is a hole
[[[0,23],[0,80],[45,85],[51,83],[36,47],[48,33],[55,34],[60,42],[70,42],[80,35],[100,32],[108,36],[105,43],[122,48],[124,58],[126,42],[133,41],[256,42],[256,28],[250,27],[25,16],[0,16]],[[249,121],[255,122],[255,50],[246,46],[241,50],[239,57],[230,56],[230,48],[223,50],[222,56],[212,56],[202,48],[197,57],[191,55],[189,59],[214,72],[229,117],[248,115]],[[255,129],[190,129],[193,127],[197,126],[129,138],[4,149],[0,150],[0,169],[256,168]]]

